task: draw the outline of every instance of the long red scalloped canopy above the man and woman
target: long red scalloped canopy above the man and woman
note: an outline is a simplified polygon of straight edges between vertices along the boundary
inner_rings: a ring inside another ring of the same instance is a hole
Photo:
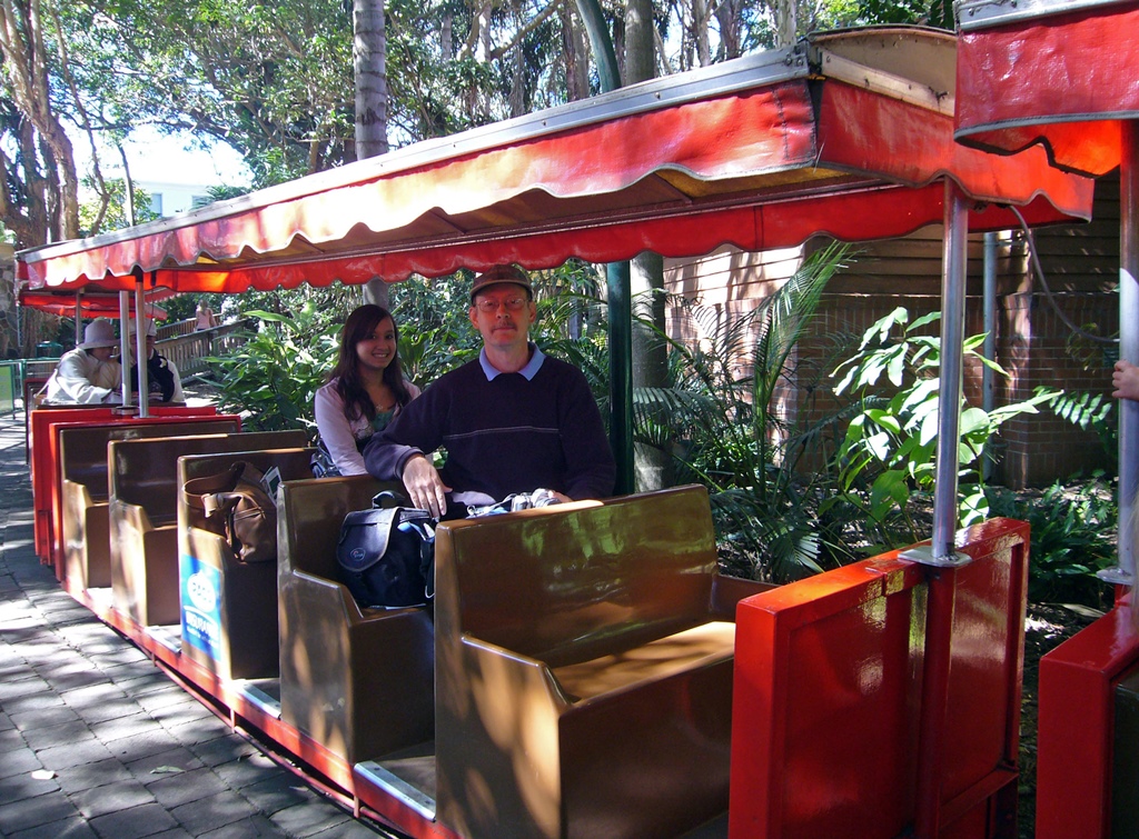
[[[951,35],[917,40],[952,59]],[[552,109],[527,117],[538,126],[528,133],[429,141],[420,146],[431,154],[412,146],[182,217],[24,252],[21,274],[32,287],[132,288],[144,275],[180,291],[238,293],[642,250],[693,256],[728,242],[754,252],[818,233],[858,241],[940,222],[947,179],[976,199],[973,230],[1015,227],[1007,204],[1030,223],[1090,217],[1092,182],[1049,166],[1041,149],[964,148],[951,109],[827,77],[803,49],[798,63],[780,54],[718,65],[745,82],[757,68],[754,84],[728,91],[672,101],[673,87],[706,74],[670,76],[617,91],[599,100],[614,107],[563,130],[543,128],[562,124],[566,108]]]

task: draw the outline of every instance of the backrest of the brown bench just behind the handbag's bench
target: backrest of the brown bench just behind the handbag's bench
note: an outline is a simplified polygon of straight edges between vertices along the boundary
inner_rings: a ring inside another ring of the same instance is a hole
[[[181,495],[181,484],[177,477],[180,456],[298,449],[306,442],[303,430],[115,441],[107,449],[110,494],[118,501],[138,504],[153,519],[173,518],[178,515],[178,499]]]

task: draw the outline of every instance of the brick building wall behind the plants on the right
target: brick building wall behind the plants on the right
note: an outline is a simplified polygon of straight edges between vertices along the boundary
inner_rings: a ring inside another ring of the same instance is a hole
[[[1035,232],[1038,253],[1056,306],[1077,327],[1114,336],[1118,328],[1118,182],[1103,179],[1096,189],[1090,224]],[[806,248],[768,254],[721,249],[689,261],[666,261],[670,290],[698,297],[713,322],[738,318],[772,294],[798,266]],[[850,347],[863,331],[896,306],[911,321],[941,307],[942,232],[926,228],[903,239],[859,246],[853,264],[828,286],[811,335],[795,356],[796,376],[779,396],[788,419],[823,416],[837,403],[826,388],[808,389],[819,372],[829,372],[838,347]],[[970,237],[966,298],[966,335],[984,330],[983,244]],[[1056,314],[1041,283],[1029,272],[1027,246],[1019,232],[999,237],[997,255],[997,361],[1009,373],[994,381],[994,402],[1008,404],[1032,395],[1038,386],[1070,392],[1109,393],[1114,348],[1081,338]],[[706,324],[670,312],[670,334],[695,342]],[[857,344],[854,345],[857,346]],[[739,372],[746,372],[740,365]],[[981,404],[980,364],[965,370],[965,394]],[[1099,438],[1049,411],[1013,420],[998,439],[1000,456],[993,479],[1013,487],[1041,486],[1080,470],[1106,466],[1111,458]]]

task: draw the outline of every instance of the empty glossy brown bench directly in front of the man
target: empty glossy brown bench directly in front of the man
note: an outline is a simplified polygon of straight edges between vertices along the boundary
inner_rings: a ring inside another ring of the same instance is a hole
[[[441,524],[440,821],[652,837],[726,812],[735,607],[770,586],[716,567],[698,486]]]

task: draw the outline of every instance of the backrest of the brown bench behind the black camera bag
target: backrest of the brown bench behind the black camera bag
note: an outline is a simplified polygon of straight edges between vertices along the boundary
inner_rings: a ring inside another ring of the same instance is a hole
[[[371,507],[372,496],[382,490],[402,493],[403,486],[368,475],[288,482],[277,519],[281,573],[303,571],[339,581],[336,542],[341,524],[353,510]]]

